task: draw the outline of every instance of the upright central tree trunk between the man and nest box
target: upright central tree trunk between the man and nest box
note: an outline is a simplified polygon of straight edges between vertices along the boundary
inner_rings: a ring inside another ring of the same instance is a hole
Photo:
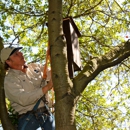
[[[62,28],[62,0],[49,0],[48,27],[52,80],[56,96],[56,130],[76,130],[75,97],[71,94],[73,83],[69,78],[67,46]]]

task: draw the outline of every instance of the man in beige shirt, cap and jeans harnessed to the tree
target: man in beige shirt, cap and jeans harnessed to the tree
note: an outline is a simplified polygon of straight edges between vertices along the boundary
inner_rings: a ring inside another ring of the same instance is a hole
[[[43,66],[36,63],[26,65],[22,47],[6,47],[1,50],[1,62],[5,65],[5,95],[13,109],[19,113],[18,130],[55,130],[53,115],[47,110],[46,98],[52,88],[50,71],[43,80]],[[47,83],[48,81],[48,83]]]

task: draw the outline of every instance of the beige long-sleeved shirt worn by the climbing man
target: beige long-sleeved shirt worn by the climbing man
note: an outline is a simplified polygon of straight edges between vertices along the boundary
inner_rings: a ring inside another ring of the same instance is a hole
[[[43,96],[42,88],[50,80],[50,71],[47,80],[42,79],[43,66],[36,63],[28,65],[26,74],[19,70],[10,69],[5,76],[5,95],[13,109],[19,114],[33,109],[34,105]],[[39,107],[44,106],[43,101]]]

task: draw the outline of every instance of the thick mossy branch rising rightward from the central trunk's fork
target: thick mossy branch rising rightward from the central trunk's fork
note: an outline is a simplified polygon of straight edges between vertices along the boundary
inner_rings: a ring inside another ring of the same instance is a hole
[[[81,73],[75,77],[74,92],[78,96],[86,88],[87,84],[92,81],[103,70],[121,63],[130,56],[130,40],[116,46],[109,53],[95,57],[87,61],[86,66]]]

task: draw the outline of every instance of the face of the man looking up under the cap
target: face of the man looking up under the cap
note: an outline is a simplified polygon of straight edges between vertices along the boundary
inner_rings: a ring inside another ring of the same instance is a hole
[[[6,61],[6,63],[11,67],[11,68],[16,68],[19,66],[23,66],[25,64],[25,60],[23,57],[22,52],[19,50],[15,51],[9,59]]]

